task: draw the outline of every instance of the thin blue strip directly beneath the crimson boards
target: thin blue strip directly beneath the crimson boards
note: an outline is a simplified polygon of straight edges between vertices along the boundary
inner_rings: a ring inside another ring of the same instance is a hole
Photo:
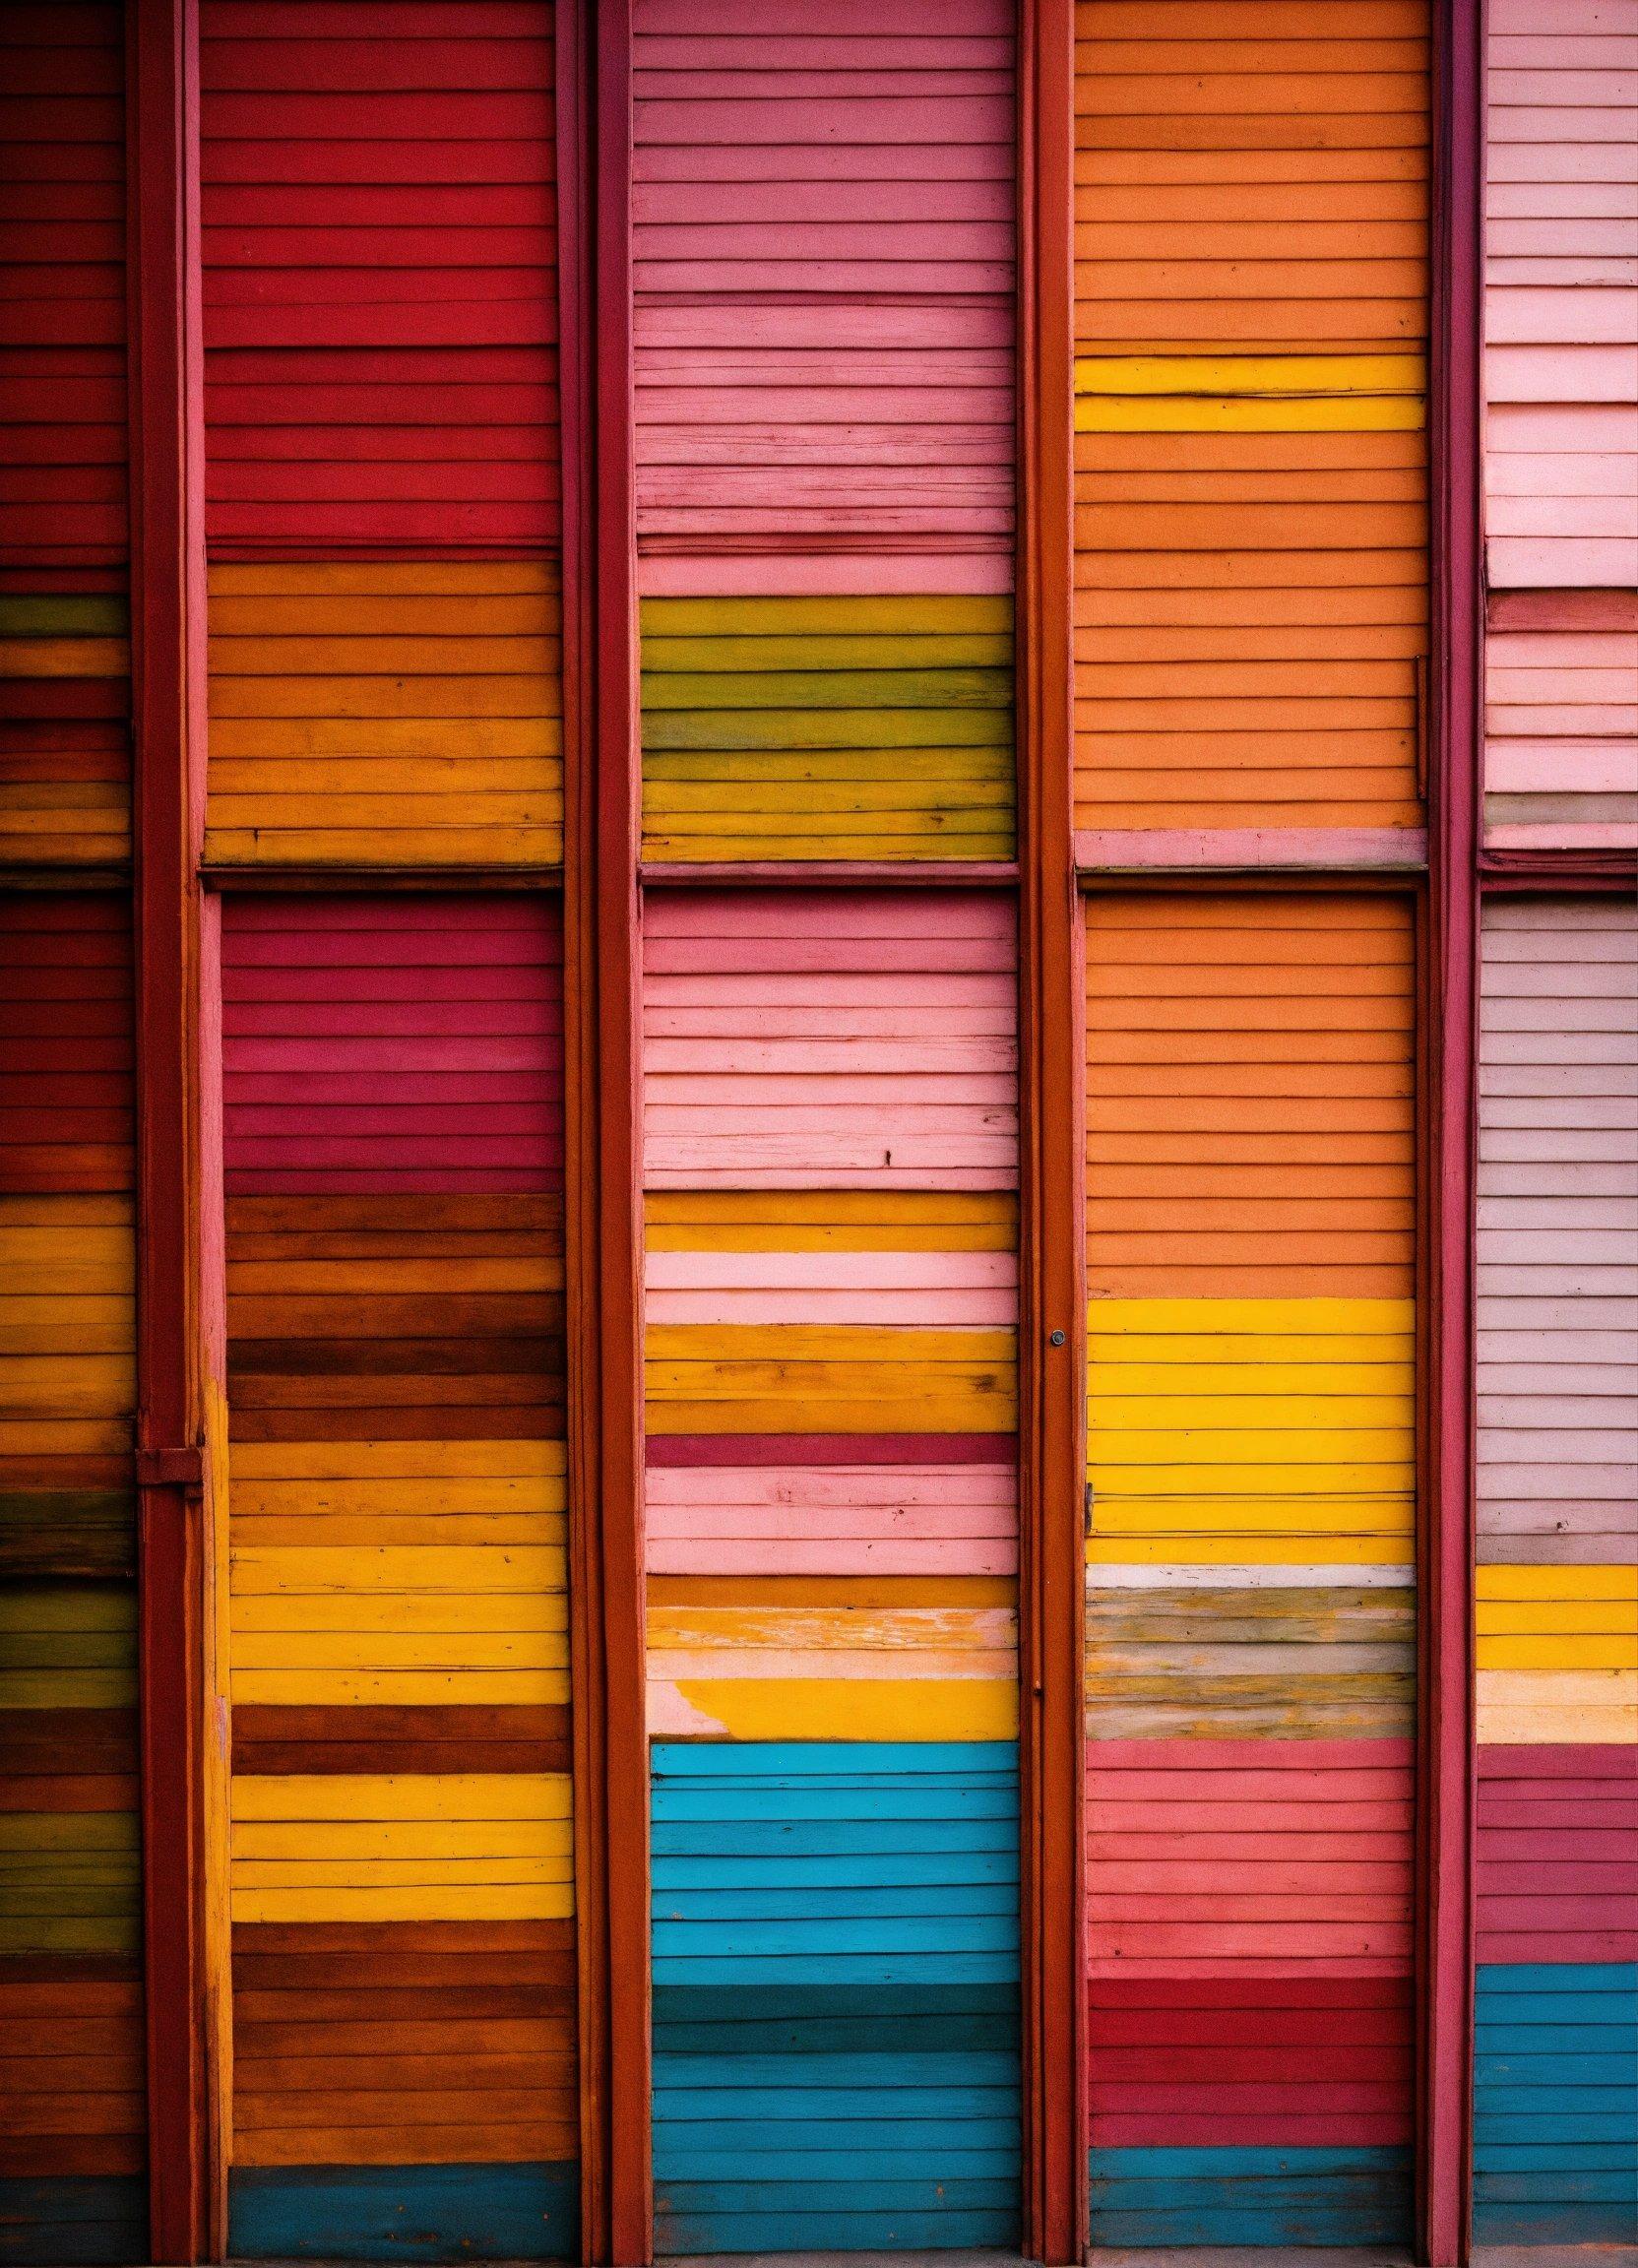
[[[1094,2245],[1402,2245],[1402,2148],[1152,2148],[1091,2152]]]

